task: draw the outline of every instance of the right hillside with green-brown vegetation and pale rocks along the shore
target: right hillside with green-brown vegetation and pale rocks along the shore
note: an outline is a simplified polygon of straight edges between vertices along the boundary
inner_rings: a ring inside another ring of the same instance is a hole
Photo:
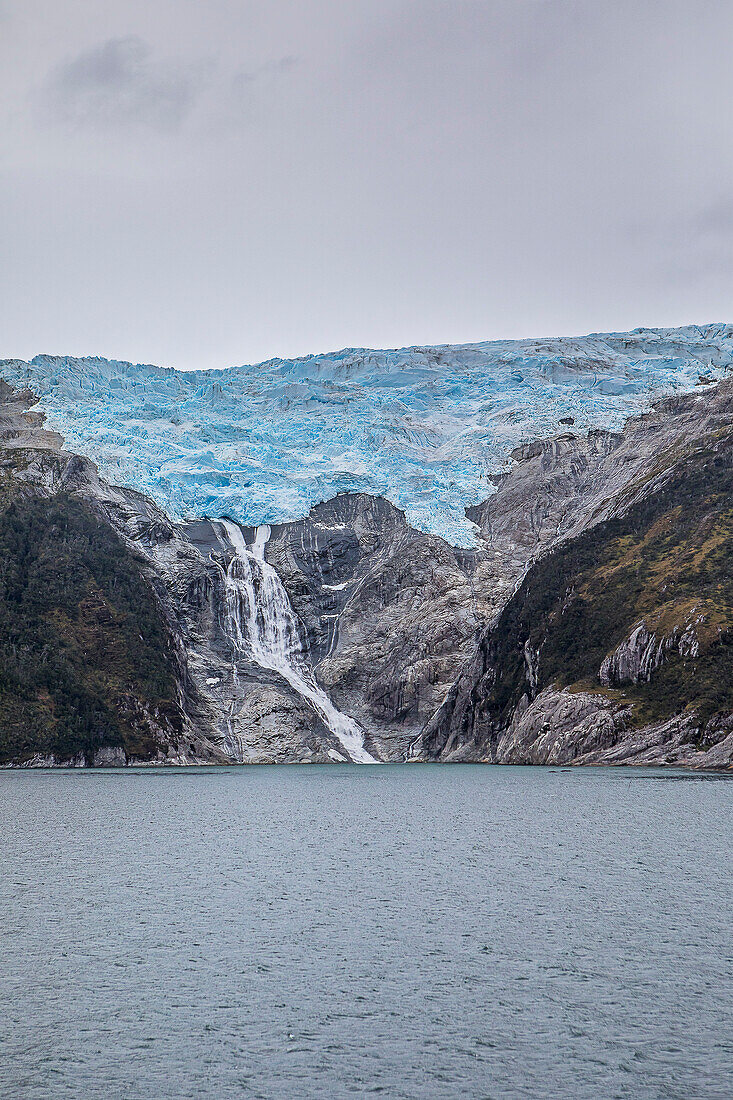
[[[627,759],[648,748],[636,732],[667,724],[683,759],[733,733],[733,429],[641,495],[529,570],[425,732],[428,756]]]

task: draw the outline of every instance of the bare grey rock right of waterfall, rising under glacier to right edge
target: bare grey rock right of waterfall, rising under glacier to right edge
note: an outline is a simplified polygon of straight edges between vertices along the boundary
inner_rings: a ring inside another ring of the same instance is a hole
[[[267,559],[304,623],[318,676],[374,730],[385,759],[429,725],[482,625],[533,562],[658,493],[696,439],[730,426],[732,395],[723,383],[661,400],[623,432],[564,432],[517,449],[496,492],[468,512],[481,532],[473,551],[420,535],[394,506],[361,494],[273,529]],[[693,637],[686,626],[675,645]]]

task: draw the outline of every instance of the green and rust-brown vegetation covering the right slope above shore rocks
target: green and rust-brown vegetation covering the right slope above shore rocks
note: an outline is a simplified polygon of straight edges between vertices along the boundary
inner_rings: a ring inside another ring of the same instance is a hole
[[[603,690],[637,725],[694,710],[733,712],[733,432],[686,455],[659,492],[529,570],[484,641],[486,711],[504,725],[527,691],[529,639],[540,691]],[[657,638],[693,624],[699,656],[670,648],[648,682],[601,689],[604,657],[644,620]]]

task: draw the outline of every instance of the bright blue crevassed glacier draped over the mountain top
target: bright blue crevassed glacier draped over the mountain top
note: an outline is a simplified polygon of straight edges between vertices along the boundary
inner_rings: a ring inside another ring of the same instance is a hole
[[[226,370],[98,358],[0,361],[47,425],[176,520],[248,527],[337,493],[382,495],[418,530],[475,544],[466,508],[519,443],[620,428],[661,395],[731,371],[733,326],[348,349]]]

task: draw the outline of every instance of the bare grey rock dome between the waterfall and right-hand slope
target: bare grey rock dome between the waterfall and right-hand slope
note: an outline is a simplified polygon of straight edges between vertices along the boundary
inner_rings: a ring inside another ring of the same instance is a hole
[[[273,529],[267,560],[305,626],[319,682],[403,759],[470,654],[488,604],[481,557],[422,535],[393,505],[344,494]]]

